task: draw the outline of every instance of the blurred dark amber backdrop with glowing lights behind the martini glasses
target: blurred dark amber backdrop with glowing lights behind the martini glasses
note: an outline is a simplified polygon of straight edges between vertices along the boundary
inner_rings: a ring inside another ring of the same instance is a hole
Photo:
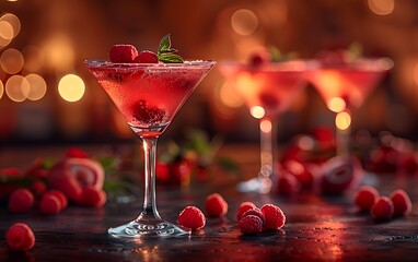
[[[0,143],[133,139],[83,66],[114,44],[156,50],[170,33],[188,59],[242,60],[259,46],[312,58],[362,45],[394,68],[353,112],[352,129],[418,139],[418,1],[415,0],[0,0]],[[279,140],[334,126],[312,85],[279,119]],[[185,127],[227,142],[259,140],[258,120],[214,68],[162,139]]]

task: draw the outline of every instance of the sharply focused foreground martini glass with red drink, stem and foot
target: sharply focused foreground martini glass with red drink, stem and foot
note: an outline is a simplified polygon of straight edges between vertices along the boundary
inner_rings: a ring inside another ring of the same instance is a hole
[[[190,230],[161,218],[155,202],[155,153],[159,136],[198,83],[214,66],[212,61],[184,63],[112,63],[86,60],[85,66],[142,140],[144,199],[140,215],[108,234],[116,238],[189,236]]]

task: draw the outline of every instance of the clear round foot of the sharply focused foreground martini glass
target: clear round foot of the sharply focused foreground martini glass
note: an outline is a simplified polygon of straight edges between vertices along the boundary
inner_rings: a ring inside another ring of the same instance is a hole
[[[118,227],[111,227],[107,233],[115,238],[178,238],[190,236],[191,230],[165,221],[132,221]]]

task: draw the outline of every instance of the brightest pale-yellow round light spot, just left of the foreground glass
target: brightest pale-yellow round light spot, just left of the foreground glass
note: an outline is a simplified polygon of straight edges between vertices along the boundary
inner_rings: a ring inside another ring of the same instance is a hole
[[[76,74],[67,74],[58,84],[59,95],[67,102],[78,102],[84,95],[85,85]]]

